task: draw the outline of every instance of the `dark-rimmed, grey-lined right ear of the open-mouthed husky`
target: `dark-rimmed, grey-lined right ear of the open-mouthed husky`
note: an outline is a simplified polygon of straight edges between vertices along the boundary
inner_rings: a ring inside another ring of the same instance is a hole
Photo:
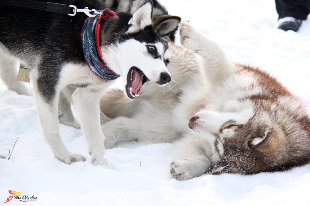
[[[178,29],[180,21],[179,16],[160,15],[153,17],[154,31],[159,36],[168,36],[173,41],[173,33]]]

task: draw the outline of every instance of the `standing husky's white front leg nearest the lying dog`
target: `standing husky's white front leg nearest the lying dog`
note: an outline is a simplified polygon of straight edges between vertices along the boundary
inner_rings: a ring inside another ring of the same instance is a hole
[[[104,148],[104,135],[100,125],[100,97],[104,90],[98,88],[77,88],[73,102],[82,130],[88,143],[91,161],[94,165],[107,165]]]

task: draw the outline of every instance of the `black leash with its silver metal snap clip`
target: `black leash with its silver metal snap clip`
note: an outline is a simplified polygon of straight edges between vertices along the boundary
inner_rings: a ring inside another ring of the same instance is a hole
[[[77,12],[83,12],[89,17],[95,17],[96,15],[102,15],[100,12],[97,12],[95,9],[88,9],[85,7],[84,9],[78,9],[74,5],[64,5],[52,2],[38,2],[32,0],[0,0],[0,4],[8,5],[8,6],[19,6],[29,9],[38,9],[43,11],[51,11],[55,13],[68,14],[69,16],[75,16]],[[91,14],[92,12],[93,14]]]

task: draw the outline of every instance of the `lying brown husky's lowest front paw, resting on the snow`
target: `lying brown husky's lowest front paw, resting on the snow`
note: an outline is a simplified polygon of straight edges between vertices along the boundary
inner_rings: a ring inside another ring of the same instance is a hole
[[[177,180],[192,179],[189,172],[187,171],[187,160],[173,161],[170,164],[170,174]]]

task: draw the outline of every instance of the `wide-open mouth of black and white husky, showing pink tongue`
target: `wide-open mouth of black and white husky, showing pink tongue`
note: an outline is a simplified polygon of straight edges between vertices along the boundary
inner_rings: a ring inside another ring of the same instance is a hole
[[[127,74],[126,93],[130,99],[139,96],[138,92],[149,79],[138,67],[131,67]]]

